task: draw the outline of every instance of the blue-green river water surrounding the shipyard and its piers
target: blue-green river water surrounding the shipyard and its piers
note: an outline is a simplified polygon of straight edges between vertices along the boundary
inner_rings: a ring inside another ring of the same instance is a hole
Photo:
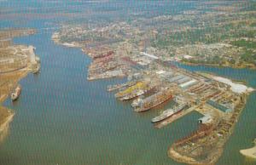
[[[34,1],[21,4],[24,8],[44,5]],[[67,7],[61,4],[60,8]],[[20,17],[24,17],[22,11]],[[0,164],[180,164],[167,157],[168,147],[194,131],[201,115],[192,113],[166,128],[154,128],[150,119],[157,111],[137,114],[129,103],[115,100],[113,94],[106,91],[108,84],[121,83],[125,79],[88,82],[90,59],[79,48],[65,48],[50,40],[54,31],[44,28],[62,19],[34,16],[23,18],[25,23],[15,19],[1,21],[1,27],[38,29],[36,35],[16,38],[15,43],[35,46],[42,68],[38,76],[29,74],[21,80],[22,94],[15,105],[10,100],[4,103],[15,110],[15,118],[10,124],[9,136],[0,145]],[[191,71],[212,71],[245,80],[249,86],[256,87],[256,71],[181,66]],[[217,164],[255,164],[239,154],[240,149],[252,146],[251,141],[256,137],[255,100],[256,94],[251,94]]]

